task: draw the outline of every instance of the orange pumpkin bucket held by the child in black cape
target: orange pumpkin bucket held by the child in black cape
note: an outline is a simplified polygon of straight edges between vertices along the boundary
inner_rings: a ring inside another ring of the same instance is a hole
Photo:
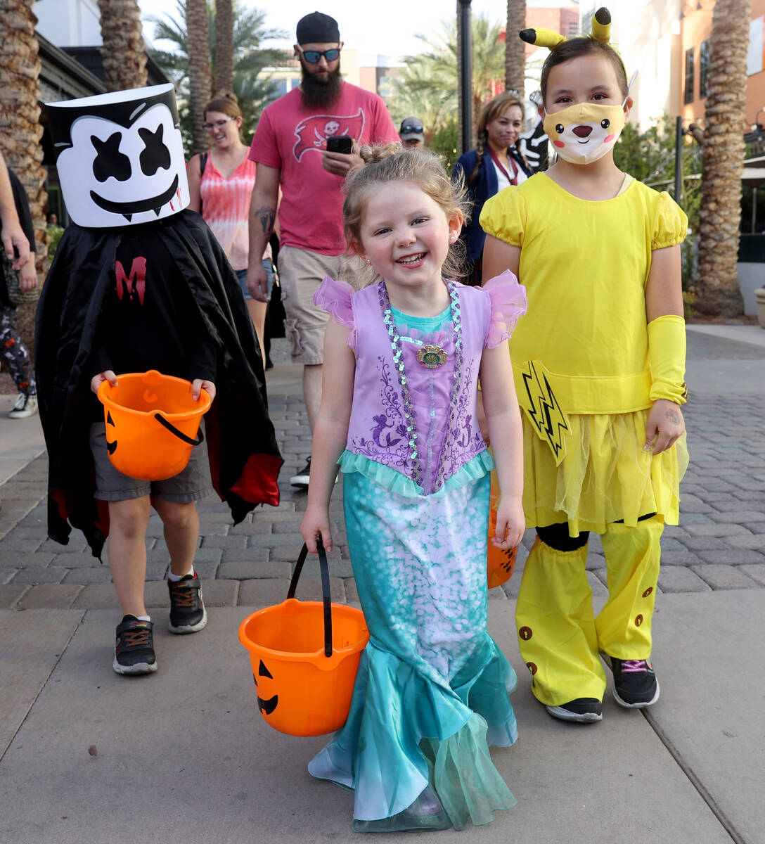
[[[191,381],[156,370],[117,376],[116,387],[103,381],[97,395],[109,459],[139,480],[172,478],[186,468],[191,449],[202,442],[199,423],[212,403],[205,390],[194,401]]]

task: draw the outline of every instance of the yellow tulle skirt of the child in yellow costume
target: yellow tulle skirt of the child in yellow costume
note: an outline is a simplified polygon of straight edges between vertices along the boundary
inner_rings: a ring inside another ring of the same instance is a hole
[[[677,524],[680,481],[688,467],[686,435],[661,454],[643,450],[648,410],[630,414],[569,414],[566,456],[555,465],[550,446],[523,419],[526,524],[568,522],[568,533],[603,533],[656,513]]]

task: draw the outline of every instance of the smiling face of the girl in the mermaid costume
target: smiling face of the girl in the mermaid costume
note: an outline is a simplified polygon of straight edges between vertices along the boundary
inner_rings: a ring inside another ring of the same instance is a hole
[[[367,200],[355,246],[387,283],[424,292],[443,286],[441,268],[461,227],[459,211],[447,216],[416,184],[389,181]]]

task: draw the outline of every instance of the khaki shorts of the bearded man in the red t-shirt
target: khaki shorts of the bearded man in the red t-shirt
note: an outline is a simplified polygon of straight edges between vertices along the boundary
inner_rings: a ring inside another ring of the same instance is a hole
[[[358,273],[364,261],[358,255],[321,255],[296,246],[279,250],[279,283],[287,319],[292,360],[309,366],[324,362],[324,330],[329,314],[314,305],[314,295],[326,275],[359,289]]]

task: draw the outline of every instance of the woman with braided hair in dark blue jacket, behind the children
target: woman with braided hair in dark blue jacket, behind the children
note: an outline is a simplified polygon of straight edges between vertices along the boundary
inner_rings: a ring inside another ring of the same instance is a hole
[[[472,205],[471,219],[462,230],[468,275],[466,284],[481,284],[483,241],[478,217],[488,197],[531,176],[531,167],[518,146],[523,130],[523,103],[512,91],[503,91],[483,106],[476,130],[477,148],[461,155],[452,179],[462,178]]]

